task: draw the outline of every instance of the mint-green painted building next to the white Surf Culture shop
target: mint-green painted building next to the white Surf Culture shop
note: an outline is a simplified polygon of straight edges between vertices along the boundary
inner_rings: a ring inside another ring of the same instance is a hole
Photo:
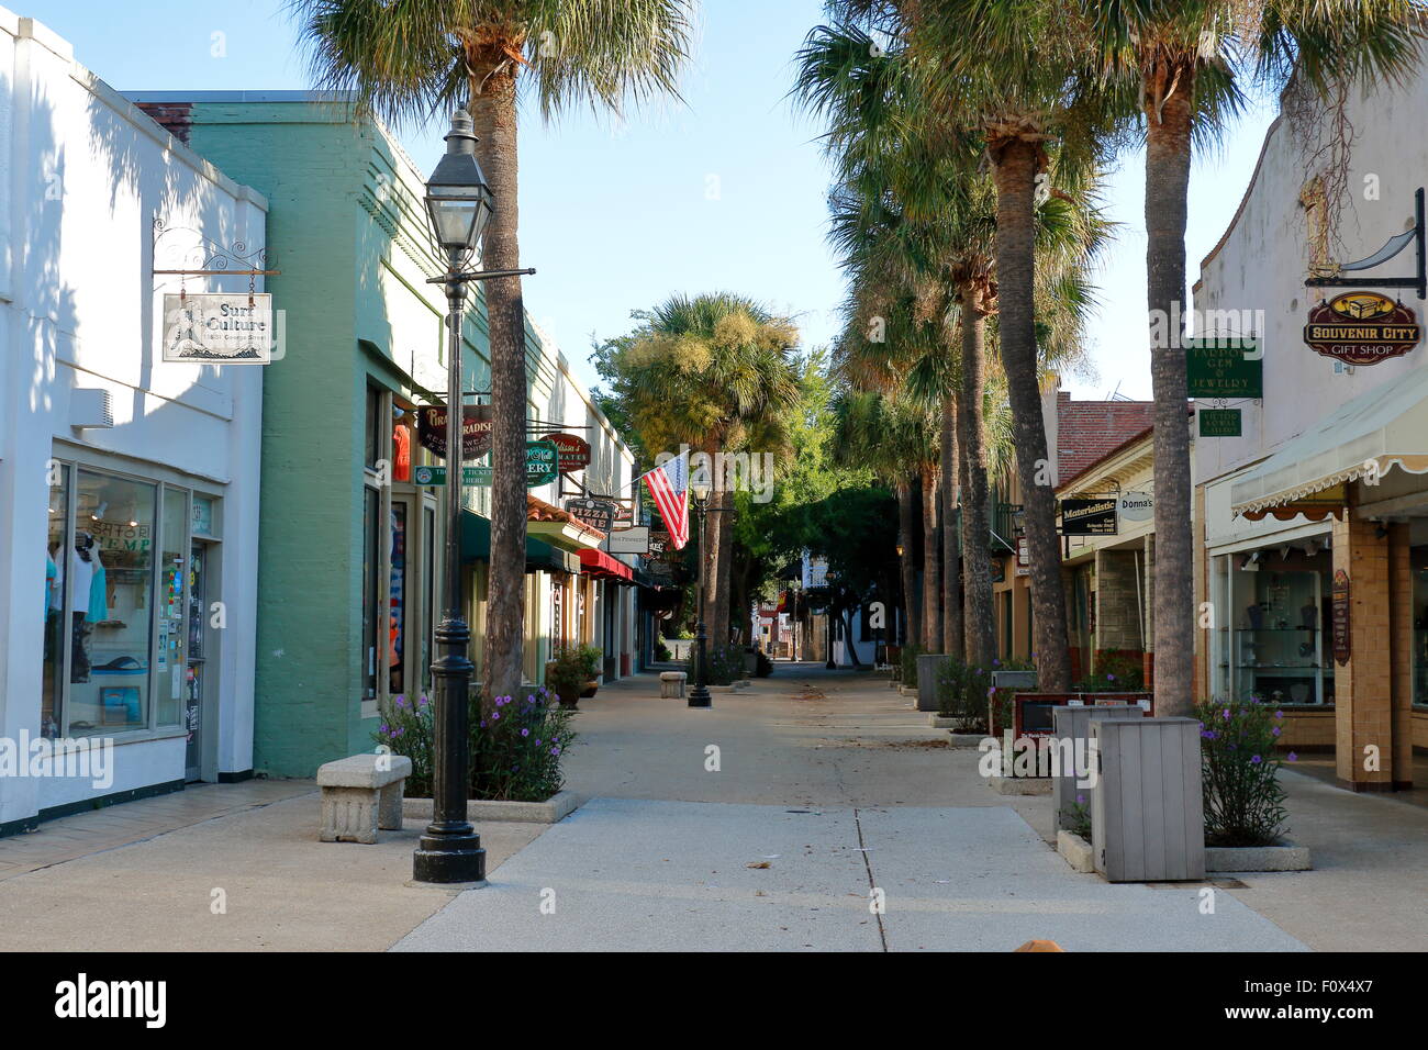
[[[354,124],[341,103],[316,94],[130,99],[270,203],[268,267],[280,273],[267,290],[281,311],[283,353],[263,386],[254,767],[311,776],[323,761],[371,750],[378,711],[430,683],[444,516],[440,490],[411,484],[406,470],[440,463],[420,449],[414,423],[446,391],[446,299],[441,286],[426,283],[444,267],[427,233],[426,176],[384,129]],[[466,386],[488,390],[476,294]],[[534,329],[527,339],[528,410],[550,419],[554,400],[573,400],[568,373]],[[577,416],[594,411],[587,407]],[[597,423],[608,430],[603,417]],[[607,437],[617,443],[613,431]],[[621,459],[607,471],[610,486],[620,481]],[[560,499],[554,486],[544,496]],[[467,506],[486,514],[488,499],[477,490]],[[543,550],[541,560],[553,576],[580,571],[567,551]],[[473,569],[468,616],[480,666],[484,573]],[[550,634],[543,597],[528,586],[533,681]]]

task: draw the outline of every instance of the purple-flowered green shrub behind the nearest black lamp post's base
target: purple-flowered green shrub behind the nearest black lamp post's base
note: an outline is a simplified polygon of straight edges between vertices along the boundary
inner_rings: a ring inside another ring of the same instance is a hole
[[[433,781],[433,716],[436,704],[420,697],[414,704],[396,697],[391,714],[373,740],[393,754],[411,759],[406,793],[430,799]],[[481,717],[480,700],[470,710],[471,799],[545,801],[564,786],[561,756],[575,739],[573,711],[557,706],[544,687],[521,701],[497,697],[490,720]]]

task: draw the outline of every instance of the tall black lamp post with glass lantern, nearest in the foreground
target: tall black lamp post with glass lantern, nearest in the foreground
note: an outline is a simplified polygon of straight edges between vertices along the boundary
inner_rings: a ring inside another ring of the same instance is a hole
[[[427,180],[426,197],[431,230],[447,256],[447,273],[428,281],[444,284],[447,294],[446,616],[436,629],[441,659],[431,664],[436,680],[433,814],[413,854],[411,867],[420,883],[478,883],[486,879],[486,850],[466,819],[471,779],[467,704],[474,667],[468,657],[471,630],[461,599],[461,424],[466,407],[461,391],[461,317],[468,281],[534,270],[464,270],[491,219],[496,199],[476,161],[476,131],[466,110],[457,110],[451,117],[446,143],[446,156]]]

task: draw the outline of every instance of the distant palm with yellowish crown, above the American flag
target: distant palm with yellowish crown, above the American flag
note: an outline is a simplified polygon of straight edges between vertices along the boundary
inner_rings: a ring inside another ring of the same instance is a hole
[[[703,619],[715,646],[730,640],[733,499],[725,453],[781,453],[787,413],[803,396],[790,351],[798,331],[743,296],[671,296],[644,316],[611,359],[617,393],[647,449],[690,444],[710,470]]]

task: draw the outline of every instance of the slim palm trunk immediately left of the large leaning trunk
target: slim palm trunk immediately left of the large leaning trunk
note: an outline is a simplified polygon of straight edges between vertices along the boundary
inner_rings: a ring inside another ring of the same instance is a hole
[[[967,663],[990,667],[997,653],[992,637],[991,523],[987,509],[987,441],[982,433],[982,393],[987,386],[985,314],[974,287],[962,290],[962,381],[957,391],[957,427],[967,464],[962,497],[962,560],[967,574]]]

